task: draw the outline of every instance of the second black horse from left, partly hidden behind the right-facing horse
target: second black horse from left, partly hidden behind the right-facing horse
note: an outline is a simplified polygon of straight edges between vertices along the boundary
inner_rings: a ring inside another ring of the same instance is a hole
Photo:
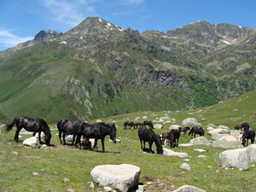
[[[60,138],[60,143],[62,144],[61,141],[61,134],[63,132],[63,144],[66,145],[66,140],[65,137],[67,136],[67,131],[71,131],[73,129],[73,127],[79,123],[80,121],[73,121],[73,120],[67,120],[67,119],[61,119],[58,123],[57,123],[57,127],[59,130],[59,138]],[[73,142],[72,145],[74,143],[76,134],[73,135]]]

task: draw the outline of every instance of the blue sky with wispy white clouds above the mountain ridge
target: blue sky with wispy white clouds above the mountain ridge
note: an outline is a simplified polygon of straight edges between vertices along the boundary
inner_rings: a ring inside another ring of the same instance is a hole
[[[0,0],[0,50],[42,30],[67,32],[88,16],[139,32],[198,20],[256,28],[256,0]]]

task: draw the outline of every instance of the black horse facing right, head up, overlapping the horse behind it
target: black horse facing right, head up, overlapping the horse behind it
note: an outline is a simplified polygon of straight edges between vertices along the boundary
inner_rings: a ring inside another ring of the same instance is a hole
[[[105,152],[104,148],[104,140],[107,135],[110,135],[110,139],[113,140],[113,143],[116,143],[116,128],[112,128],[109,125],[104,123],[96,123],[90,125],[88,123],[77,123],[72,131],[67,132],[68,135],[76,134],[77,139],[75,145],[79,143],[81,147],[81,136],[87,139],[87,143],[89,143],[90,138],[95,138],[93,150],[95,150],[97,145],[97,140],[102,140],[102,152]]]

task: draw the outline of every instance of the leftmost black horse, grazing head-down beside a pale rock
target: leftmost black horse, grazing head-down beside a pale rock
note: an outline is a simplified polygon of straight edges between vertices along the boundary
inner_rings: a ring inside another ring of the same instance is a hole
[[[49,126],[45,122],[44,119],[32,119],[28,117],[17,117],[10,125],[6,125],[6,131],[11,131],[13,127],[16,125],[17,130],[15,133],[15,141],[19,143],[19,133],[22,128],[26,129],[26,131],[32,131],[33,136],[38,132],[38,140],[41,143],[41,132],[44,132],[44,141],[47,145],[49,145],[51,134],[49,130]]]

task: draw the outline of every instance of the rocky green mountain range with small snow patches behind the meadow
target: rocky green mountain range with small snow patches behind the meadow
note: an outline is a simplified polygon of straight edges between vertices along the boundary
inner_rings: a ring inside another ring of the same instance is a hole
[[[0,120],[55,122],[211,105],[255,90],[256,29],[137,32],[89,17],[0,51]]]

